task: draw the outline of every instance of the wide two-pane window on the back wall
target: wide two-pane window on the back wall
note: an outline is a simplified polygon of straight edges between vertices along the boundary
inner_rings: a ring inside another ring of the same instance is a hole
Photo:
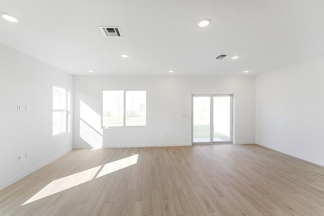
[[[145,125],[146,91],[102,91],[103,127]]]

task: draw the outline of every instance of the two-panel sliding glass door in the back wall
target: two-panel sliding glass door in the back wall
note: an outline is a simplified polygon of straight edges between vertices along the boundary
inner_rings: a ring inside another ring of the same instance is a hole
[[[192,95],[192,143],[232,143],[232,95]]]

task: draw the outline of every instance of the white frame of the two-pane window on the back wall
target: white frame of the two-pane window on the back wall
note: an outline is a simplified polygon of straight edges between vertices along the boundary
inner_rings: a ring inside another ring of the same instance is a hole
[[[104,91],[123,91],[124,92],[124,121],[123,121],[123,126],[103,126],[103,92]],[[132,126],[127,126],[126,125],[126,92],[128,91],[145,91],[145,95],[146,95],[146,98],[145,98],[145,125],[132,125]],[[101,90],[101,128],[102,129],[107,129],[107,128],[125,128],[125,127],[146,127],[147,126],[147,90],[120,90],[120,89],[103,89]]]

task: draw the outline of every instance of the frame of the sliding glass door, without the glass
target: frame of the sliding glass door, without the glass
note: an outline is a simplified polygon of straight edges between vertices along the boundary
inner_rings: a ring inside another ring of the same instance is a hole
[[[193,142],[193,98],[194,97],[210,97],[210,142]],[[214,97],[230,97],[230,132],[229,141],[214,142]],[[206,144],[233,144],[233,94],[198,94],[191,95],[191,143],[192,145]]]

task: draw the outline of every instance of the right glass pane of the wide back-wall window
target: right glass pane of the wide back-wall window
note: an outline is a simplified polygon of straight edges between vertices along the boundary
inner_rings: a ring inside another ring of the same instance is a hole
[[[126,91],[126,126],[146,125],[146,91]]]

